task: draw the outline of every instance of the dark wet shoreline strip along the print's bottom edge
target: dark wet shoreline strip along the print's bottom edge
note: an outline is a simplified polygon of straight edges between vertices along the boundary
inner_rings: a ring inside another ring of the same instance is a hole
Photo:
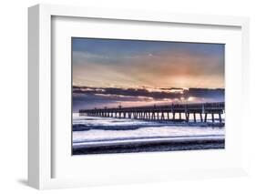
[[[225,148],[224,137],[201,138],[162,138],[156,140],[127,142],[108,142],[97,144],[81,144],[72,148],[72,155],[114,154],[136,152],[162,152],[197,149]]]

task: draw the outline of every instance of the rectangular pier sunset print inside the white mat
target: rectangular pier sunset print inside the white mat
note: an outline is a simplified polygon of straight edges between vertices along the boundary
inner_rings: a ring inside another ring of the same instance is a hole
[[[225,45],[72,37],[72,154],[225,148]]]

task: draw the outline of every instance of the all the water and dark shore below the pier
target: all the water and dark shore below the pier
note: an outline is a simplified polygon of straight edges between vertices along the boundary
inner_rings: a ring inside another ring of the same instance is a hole
[[[73,113],[73,155],[225,148],[225,128],[207,124],[80,117]]]

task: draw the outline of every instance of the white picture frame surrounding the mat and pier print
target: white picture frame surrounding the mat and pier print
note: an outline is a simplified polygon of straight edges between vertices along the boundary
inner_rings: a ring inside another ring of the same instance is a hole
[[[55,177],[53,168],[56,168],[54,158],[56,158],[56,151],[53,151],[55,145],[55,138],[53,138],[53,79],[55,73],[52,71],[52,45],[53,45],[53,18],[91,18],[91,19],[105,19],[106,23],[110,23],[111,20],[115,21],[129,21],[130,23],[139,21],[141,23],[157,24],[181,24],[188,26],[206,26],[212,27],[234,27],[240,30],[241,37],[241,62],[238,62],[237,70],[230,72],[227,69],[229,82],[236,80],[237,84],[241,86],[239,90],[242,94],[244,103],[241,105],[242,112],[248,108],[246,99],[249,98],[248,83],[249,75],[249,20],[246,17],[233,17],[233,16],[217,16],[217,15],[179,15],[170,13],[158,13],[158,12],[138,12],[131,10],[111,10],[100,8],[88,8],[77,7],[67,5],[35,5],[28,9],[28,66],[29,66],[29,94],[28,94],[28,183],[30,186],[36,189],[54,189],[54,188],[68,188],[68,187],[83,187],[89,185],[104,185],[104,184],[126,184],[130,182],[150,182],[150,181],[166,181],[170,179],[191,179],[191,178],[211,178],[211,177],[230,177],[240,176],[246,174],[246,167],[244,161],[246,156],[244,148],[241,148],[236,156],[233,153],[234,158],[241,158],[230,168],[224,165],[212,166],[212,168],[191,168],[182,169],[177,167],[177,171],[173,169],[167,169],[166,172],[162,169],[156,168],[147,170],[148,167],[138,172],[138,175],[133,177],[132,170],[130,174],[123,169],[123,173],[114,172],[109,174],[106,172],[102,176],[98,176],[96,173],[87,171],[87,177]],[[213,32],[214,33],[214,32]],[[239,71],[241,69],[241,71]],[[236,72],[236,73],[235,73]],[[241,75],[241,80],[238,77],[231,77],[231,74]],[[230,75],[230,76],[229,76]],[[240,100],[238,97],[237,100]],[[242,115],[242,119],[239,125],[237,125],[238,135],[233,137],[238,139],[238,146],[242,144],[242,138],[239,136],[246,131],[246,117]],[[240,128],[241,127],[241,128]],[[66,133],[66,132],[65,132]],[[229,134],[228,134],[229,135]],[[232,136],[232,135],[230,135]],[[231,139],[232,140],[232,139]],[[231,141],[230,140],[230,141]],[[202,153],[202,152],[201,152]],[[178,153],[179,154],[179,153]],[[196,152],[191,152],[187,158],[191,156],[207,157],[209,152],[205,154],[197,155]],[[205,156],[202,156],[205,155]],[[221,153],[225,156],[225,153]],[[175,156],[174,156],[175,157]],[[213,157],[213,156],[212,156]],[[120,158],[120,155],[119,155]],[[155,163],[159,162],[157,158],[167,158],[166,154],[154,154],[146,156],[145,154],[124,155],[122,161],[126,159],[133,159],[129,161],[135,161],[134,159],[149,159],[154,160]],[[87,160],[88,158],[79,158],[78,162]],[[95,160],[97,158],[90,158],[90,162],[97,161],[97,164],[102,163],[102,160]],[[100,159],[109,159],[100,158]],[[111,158],[110,158],[111,159]],[[112,159],[115,160],[115,159]],[[227,159],[226,159],[227,160]],[[115,161],[113,161],[115,163]],[[228,161],[226,161],[228,163]],[[64,165],[67,163],[64,162]],[[104,164],[102,164],[104,165]],[[166,164],[164,164],[166,165]],[[163,166],[164,166],[163,165]],[[115,166],[115,165],[114,165]],[[65,166],[64,166],[65,167]],[[67,167],[70,168],[70,167]],[[97,168],[97,167],[91,167]],[[62,168],[63,170],[63,168]],[[117,169],[118,171],[118,169]],[[70,173],[70,172],[68,172]],[[123,175],[122,175],[123,174]],[[111,175],[111,179],[108,176]]]

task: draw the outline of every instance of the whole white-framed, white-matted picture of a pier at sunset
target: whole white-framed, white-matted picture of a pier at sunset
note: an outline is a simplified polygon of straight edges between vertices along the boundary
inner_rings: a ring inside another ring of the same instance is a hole
[[[248,18],[28,13],[29,185],[246,174]]]

